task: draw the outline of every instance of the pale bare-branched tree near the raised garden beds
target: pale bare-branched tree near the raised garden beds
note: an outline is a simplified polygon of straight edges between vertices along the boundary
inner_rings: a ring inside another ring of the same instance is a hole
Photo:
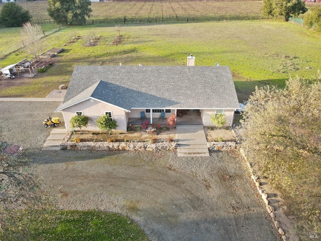
[[[32,54],[36,61],[37,56],[44,51],[44,45],[41,41],[43,37],[43,31],[38,24],[31,24],[27,22],[22,25],[23,29],[20,34],[22,36],[22,44],[27,53]]]

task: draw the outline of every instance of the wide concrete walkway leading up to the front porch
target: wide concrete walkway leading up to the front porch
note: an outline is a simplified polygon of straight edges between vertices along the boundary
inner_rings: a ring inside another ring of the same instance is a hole
[[[204,133],[204,127],[201,125],[182,125],[176,126],[178,139],[179,157],[208,157],[209,149]]]

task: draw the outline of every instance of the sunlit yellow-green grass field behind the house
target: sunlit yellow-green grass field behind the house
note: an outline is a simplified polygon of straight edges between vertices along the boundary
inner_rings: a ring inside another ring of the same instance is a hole
[[[45,26],[48,28],[48,26]],[[79,36],[69,44],[70,36]],[[81,36],[99,34],[97,45],[84,47]],[[114,25],[67,27],[44,39],[47,49],[65,50],[46,73],[33,78],[29,86],[0,90],[0,96],[45,97],[60,84],[68,84],[75,65],[186,65],[196,56],[196,65],[230,66],[240,100],[247,99],[255,86],[284,86],[290,75],[311,77],[321,69],[321,36],[300,26],[273,21],[235,21],[189,24],[121,25],[122,42]],[[19,39],[19,28],[0,32],[0,46],[6,36]],[[63,46],[64,45],[64,46]],[[0,61],[0,66],[18,62],[22,50]]]

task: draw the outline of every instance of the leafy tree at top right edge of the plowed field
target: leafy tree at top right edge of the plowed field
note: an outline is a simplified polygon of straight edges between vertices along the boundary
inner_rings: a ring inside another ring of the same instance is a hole
[[[307,11],[304,1],[301,0],[263,0],[263,3],[263,15],[283,17],[285,21],[288,21],[290,16],[297,17]]]

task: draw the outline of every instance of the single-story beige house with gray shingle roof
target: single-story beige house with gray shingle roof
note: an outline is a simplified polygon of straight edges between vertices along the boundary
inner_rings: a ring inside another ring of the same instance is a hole
[[[158,119],[162,111],[165,118],[197,111],[201,123],[209,127],[214,126],[212,113],[224,113],[225,126],[230,127],[237,108],[228,66],[76,66],[56,111],[63,113],[67,130],[75,114],[89,117],[84,128],[89,131],[99,130],[96,119],[108,114],[117,130],[127,131],[132,120],[140,122],[141,112],[149,124],[166,123]]]

